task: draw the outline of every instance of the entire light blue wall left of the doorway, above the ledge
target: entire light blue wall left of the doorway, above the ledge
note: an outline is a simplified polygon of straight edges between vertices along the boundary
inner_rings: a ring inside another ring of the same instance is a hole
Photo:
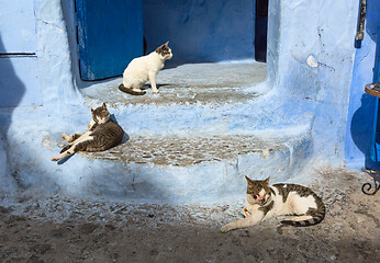
[[[0,7],[7,7],[0,9],[0,53],[12,53],[0,57],[0,106],[76,103],[60,0],[1,0]]]

